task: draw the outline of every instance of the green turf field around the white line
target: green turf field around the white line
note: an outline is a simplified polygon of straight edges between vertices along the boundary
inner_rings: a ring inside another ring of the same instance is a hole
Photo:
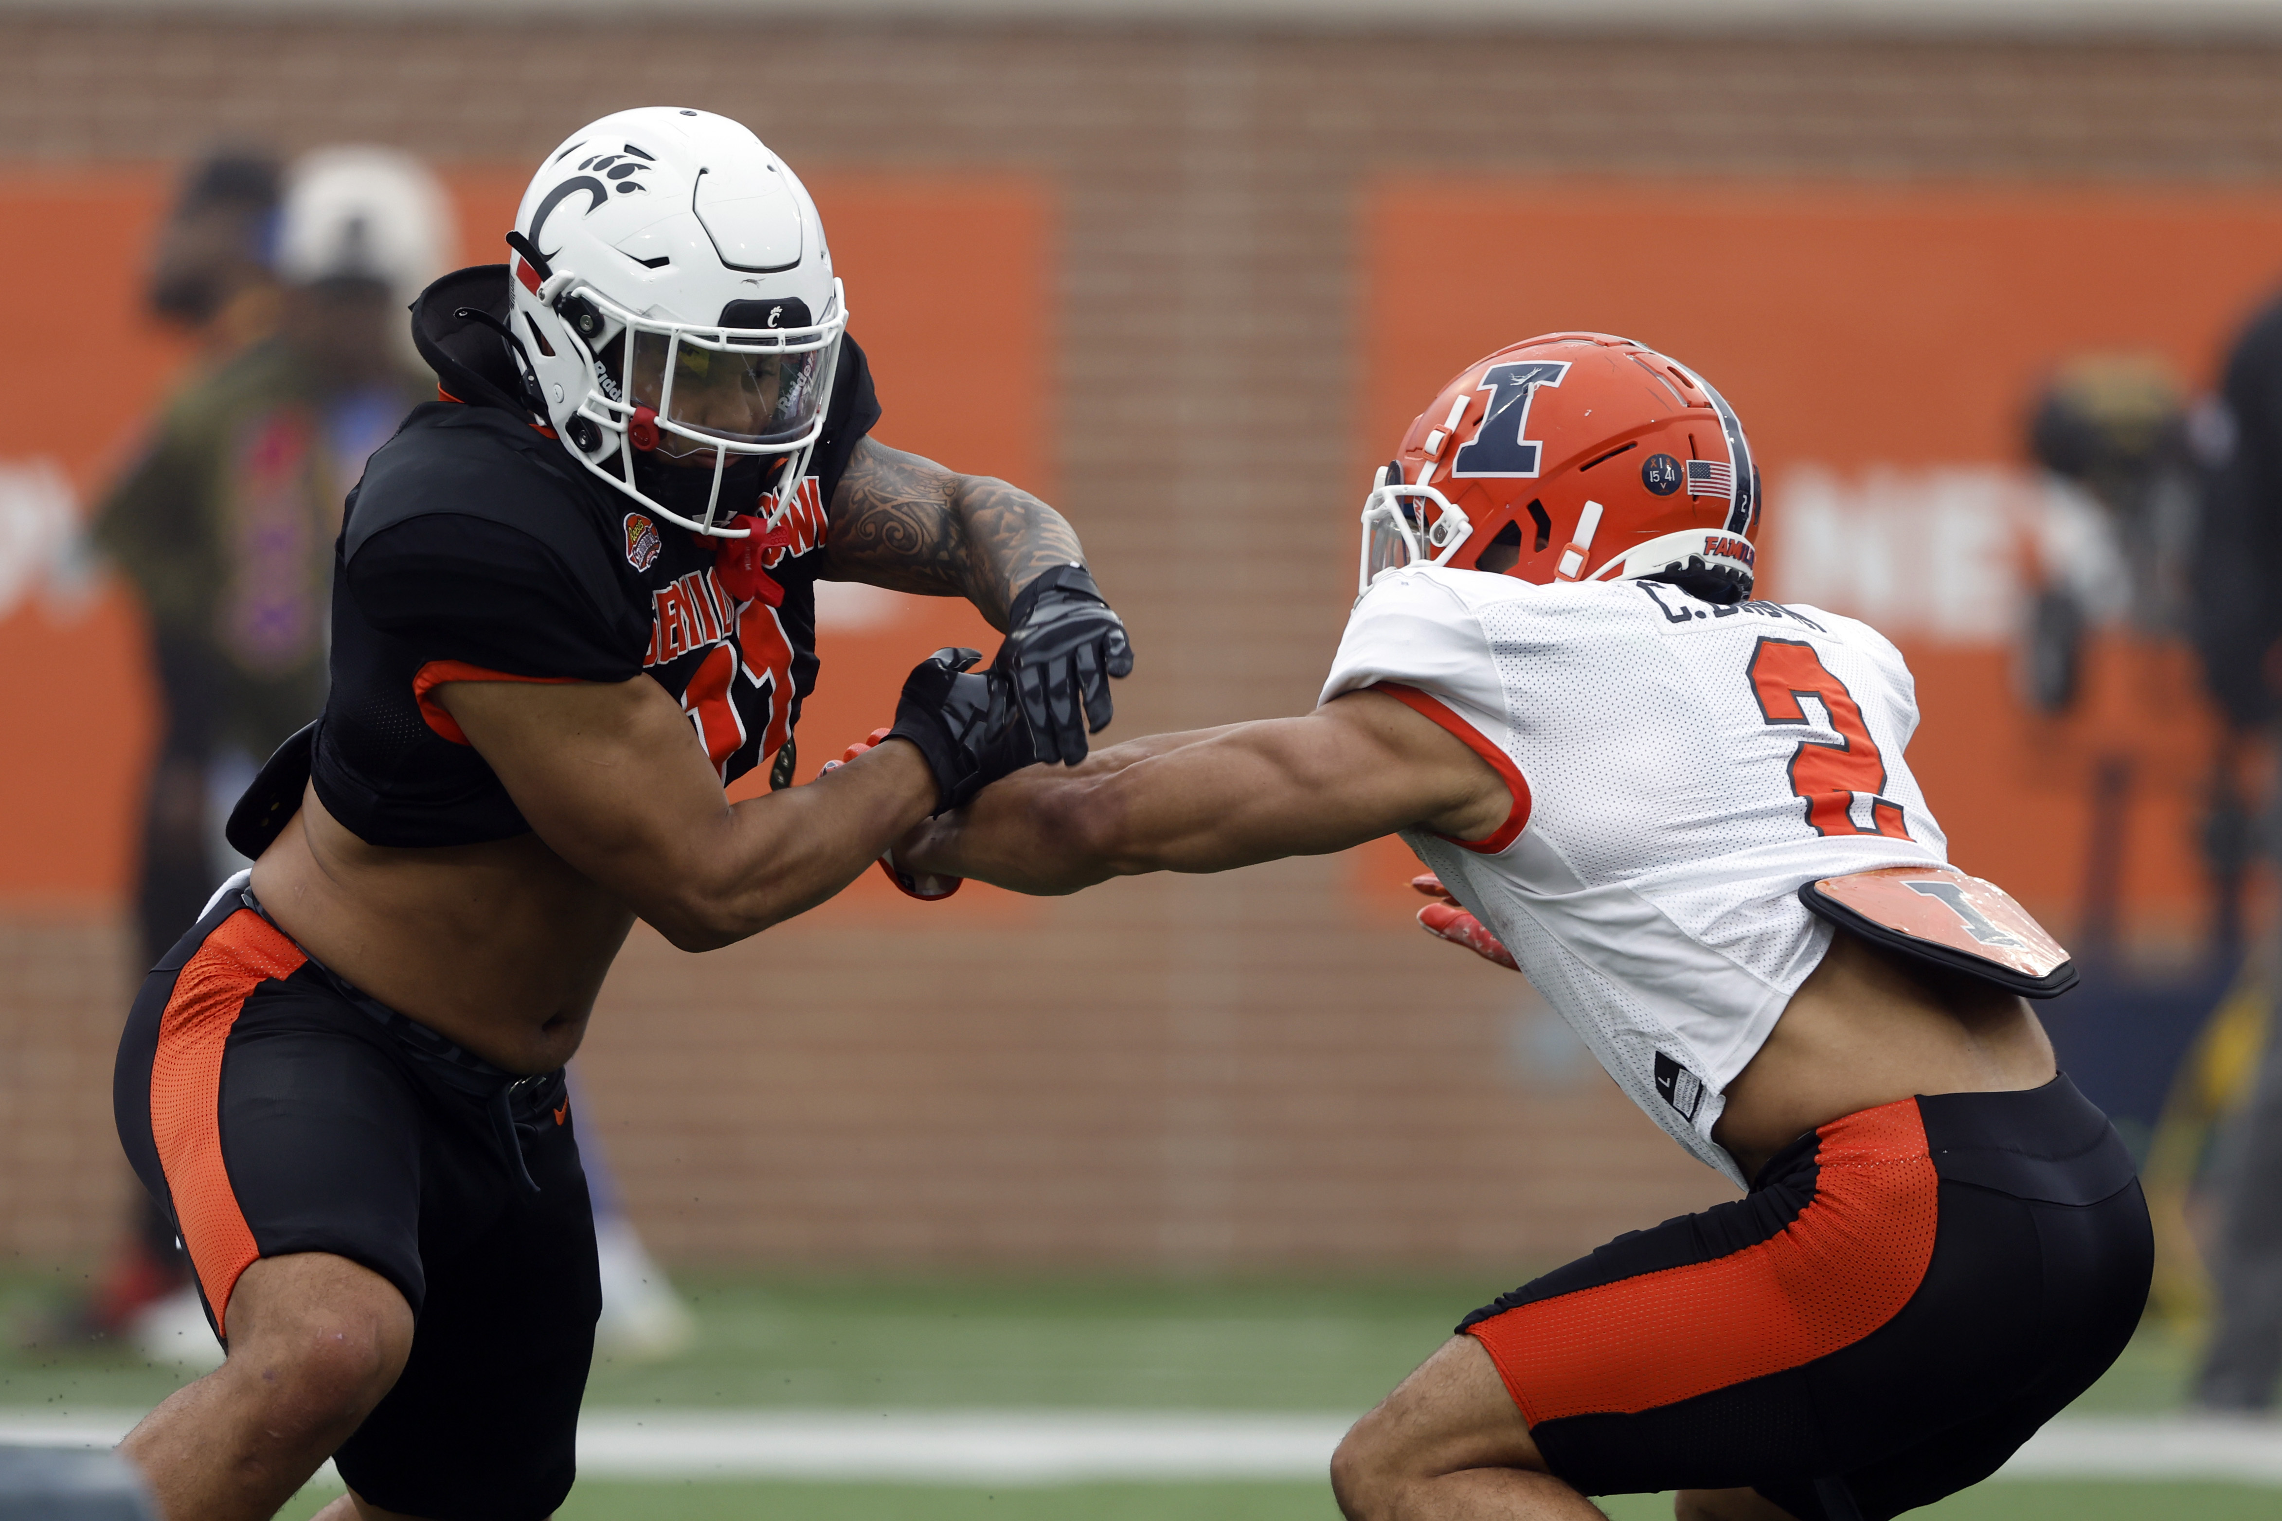
[[[1362,1412],[1504,1284],[689,1277],[701,1334],[662,1364],[605,1359],[593,1409],[641,1407],[1116,1407]],[[0,1300],[43,1293],[16,1277]],[[2191,1348],[2145,1332],[2081,1402],[2163,1412]],[[178,1375],[114,1350],[0,1352],[0,1405],[139,1407]],[[285,1512],[315,1512],[308,1491]],[[1616,1521],[1668,1516],[1654,1496]],[[2282,1491],[2245,1485],[1992,1482],[1919,1512],[1940,1521],[2271,1521]],[[564,1521],[1257,1521],[1330,1519],[1319,1482],[954,1487],[874,1482],[589,1480]]]

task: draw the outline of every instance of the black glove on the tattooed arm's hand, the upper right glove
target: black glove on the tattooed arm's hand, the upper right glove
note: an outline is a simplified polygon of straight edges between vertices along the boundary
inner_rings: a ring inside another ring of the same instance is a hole
[[[1109,723],[1109,677],[1132,675],[1134,650],[1086,568],[1054,566],[1015,593],[990,668],[1013,677],[1038,759],[1075,766],[1086,734]]]

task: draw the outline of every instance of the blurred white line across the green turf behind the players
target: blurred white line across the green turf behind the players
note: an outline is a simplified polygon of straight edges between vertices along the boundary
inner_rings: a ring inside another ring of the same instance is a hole
[[[0,1407],[0,1443],[119,1441],[141,1412]],[[593,1409],[580,1473],[936,1485],[1321,1480],[1349,1416],[1066,1409]],[[2282,1421],[2063,1416],[1997,1478],[2282,1485]]]

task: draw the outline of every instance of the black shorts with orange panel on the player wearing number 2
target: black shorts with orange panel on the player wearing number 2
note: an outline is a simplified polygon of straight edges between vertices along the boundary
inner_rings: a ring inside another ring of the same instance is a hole
[[[2122,1350],[2154,1245],[2065,1079],[1800,1136],[1753,1190],[1618,1236],[1458,1329],[1584,1494],[1755,1487],[1883,1521],[1994,1473]]]

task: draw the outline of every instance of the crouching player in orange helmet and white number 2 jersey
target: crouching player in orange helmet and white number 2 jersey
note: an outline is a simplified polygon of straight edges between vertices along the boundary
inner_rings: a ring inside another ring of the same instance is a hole
[[[1303,718],[1018,771],[897,848],[1075,892],[1401,832],[1422,919],[1518,965],[1746,1197],[1465,1316],[1333,1459],[1349,1516],[1883,1519],[1992,1473],[2138,1323],[2147,1209],[2020,994],[2065,953],[1947,864],[1876,629],[1750,600],[1757,472],[1684,365],[1467,365],[1365,506]]]

